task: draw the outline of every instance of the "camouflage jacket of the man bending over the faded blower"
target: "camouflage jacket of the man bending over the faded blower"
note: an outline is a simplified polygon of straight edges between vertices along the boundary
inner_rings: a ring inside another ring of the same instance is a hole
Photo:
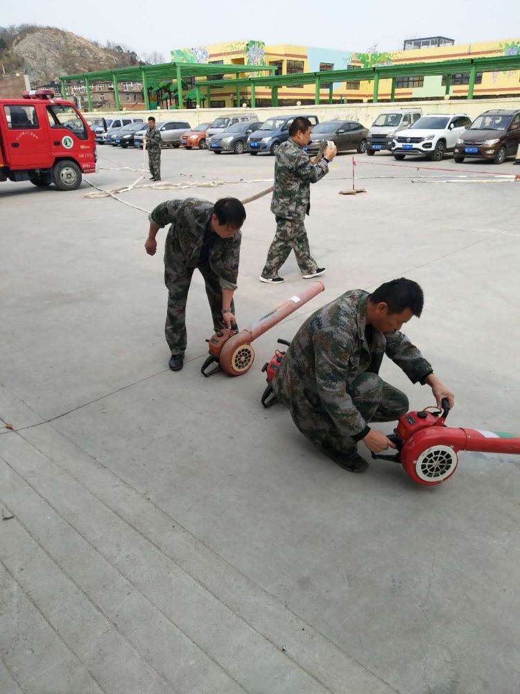
[[[198,198],[168,200],[150,212],[148,219],[157,226],[171,224],[164,243],[166,268],[180,262],[185,263],[187,267],[198,266],[202,239],[212,213],[213,205]],[[215,236],[216,239],[209,251],[209,266],[218,277],[220,287],[236,289],[242,234],[237,231],[230,239],[221,239],[216,234]]]

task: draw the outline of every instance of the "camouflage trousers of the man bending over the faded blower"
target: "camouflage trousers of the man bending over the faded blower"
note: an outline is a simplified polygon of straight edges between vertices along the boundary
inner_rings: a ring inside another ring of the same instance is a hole
[[[172,354],[184,354],[187,345],[186,332],[186,302],[191,285],[194,267],[187,267],[182,260],[169,255],[168,263],[164,263],[164,284],[168,288],[168,310],[164,335]],[[209,266],[209,262],[198,265],[198,270],[204,278],[206,295],[213,318],[215,332],[223,328],[222,317],[222,287],[218,277]],[[231,312],[234,314],[234,302],[231,302]]]

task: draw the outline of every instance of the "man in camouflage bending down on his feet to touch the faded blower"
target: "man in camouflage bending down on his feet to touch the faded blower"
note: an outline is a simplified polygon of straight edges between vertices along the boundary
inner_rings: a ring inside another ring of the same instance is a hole
[[[150,213],[150,230],[144,244],[155,255],[155,237],[171,224],[164,244],[164,282],[168,312],[164,329],[171,350],[169,366],[180,371],[186,350],[186,302],[193,270],[204,278],[215,331],[236,325],[233,294],[239,274],[241,227],[245,209],[236,198],[209,203],[198,198],[169,200]]]

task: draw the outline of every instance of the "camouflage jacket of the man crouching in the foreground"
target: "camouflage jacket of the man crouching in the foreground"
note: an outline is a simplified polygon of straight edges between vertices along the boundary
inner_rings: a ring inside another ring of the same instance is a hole
[[[432,373],[431,364],[406,335],[396,330],[365,335],[368,292],[347,291],[305,321],[288,348],[273,382],[275,394],[324,409],[340,432],[356,438],[367,423],[349,396],[349,385],[365,371],[379,373],[386,354],[415,383]],[[364,434],[363,434],[364,435]]]

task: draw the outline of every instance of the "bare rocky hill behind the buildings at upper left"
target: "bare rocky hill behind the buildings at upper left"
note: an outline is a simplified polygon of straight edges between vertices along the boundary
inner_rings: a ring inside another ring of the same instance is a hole
[[[100,46],[49,26],[0,27],[0,75],[23,71],[31,85],[46,84],[64,74],[140,64],[134,51],[119,44]]]

